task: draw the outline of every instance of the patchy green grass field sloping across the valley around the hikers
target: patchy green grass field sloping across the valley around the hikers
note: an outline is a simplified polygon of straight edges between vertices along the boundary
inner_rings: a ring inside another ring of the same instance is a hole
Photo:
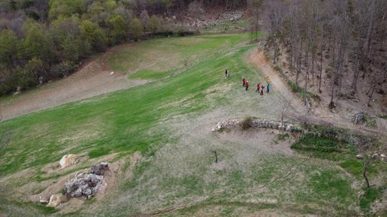
[[[335,162],[294,154],[292,138],[276,144],[270,131],[255,140],[244,139],[255,134],[211,132],[226,118],[278,118],[282,96],[275,89],[265,97],[254,92],[255,82],[264,79],[248,61],[255,48],[248,40],[248,34],[192,36],[123,46],[108,65],[150,83],[2,122],[0,130],[10,130],[12,139],[0,161],[0,213],[131,216],[171,207],[179,208],[161,215],[360,213],[359,178]],[[240,87],[242,75],[251,79],[250,91]],[[124,160],[125,170],[136,151],[143,158],[132,178],[122,178],[104,199],[65,214],[28,201],[19,190],[29,182],[55,181],[111,154],[111,162]],[[86,160],[66,172],[43,169],[68,153]]]

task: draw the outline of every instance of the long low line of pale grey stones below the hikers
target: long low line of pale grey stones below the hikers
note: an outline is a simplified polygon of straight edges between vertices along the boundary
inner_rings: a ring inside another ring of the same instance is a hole
[[[246,123],[248,121],[248,123]],[[284,130],[288,132],[292,132],[294,130],[297,130],[298,128],[293,126],[292,124],[284,123],[283,125],[281,122],[277,121],[270,121],[270,120],[258,120],[258,119],[244,119],[244,118],[237,118],[237,119],[231,119],[231,120],[224,120],[219,122],[213,129],[213,132],[218,132],[223,129],[232,129],[232,128],[245,128],[244,125],[248,124],[249,128],[271,128],[271,129],[278,129],[278,130]]]

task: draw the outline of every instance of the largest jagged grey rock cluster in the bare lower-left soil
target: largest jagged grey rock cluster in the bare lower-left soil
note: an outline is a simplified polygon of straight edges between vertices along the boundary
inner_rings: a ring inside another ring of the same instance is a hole
[[[65,184],[64,194],[68,197],[87,199],[94,196],[105,185],[102,175],[80,173]]]

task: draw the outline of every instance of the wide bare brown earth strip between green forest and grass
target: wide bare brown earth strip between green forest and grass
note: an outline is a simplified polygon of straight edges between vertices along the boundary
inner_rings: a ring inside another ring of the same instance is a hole
[[[112,70],[105,64],[105,59],[114,52],[115,48],[110,49],[66,78],[0,101],[3,119],[11,119],[147,82],[147,80],[130,80],[125,73],[114,72],[110,75]]]

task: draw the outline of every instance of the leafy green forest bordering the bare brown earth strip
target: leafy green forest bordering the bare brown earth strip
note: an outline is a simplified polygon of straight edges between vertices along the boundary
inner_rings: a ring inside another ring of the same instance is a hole
[[[243,1],[5,0],[0,3],[0,95],[75,71],[81,60],[144,33],[175,30],[172,9],[240,7]]]

